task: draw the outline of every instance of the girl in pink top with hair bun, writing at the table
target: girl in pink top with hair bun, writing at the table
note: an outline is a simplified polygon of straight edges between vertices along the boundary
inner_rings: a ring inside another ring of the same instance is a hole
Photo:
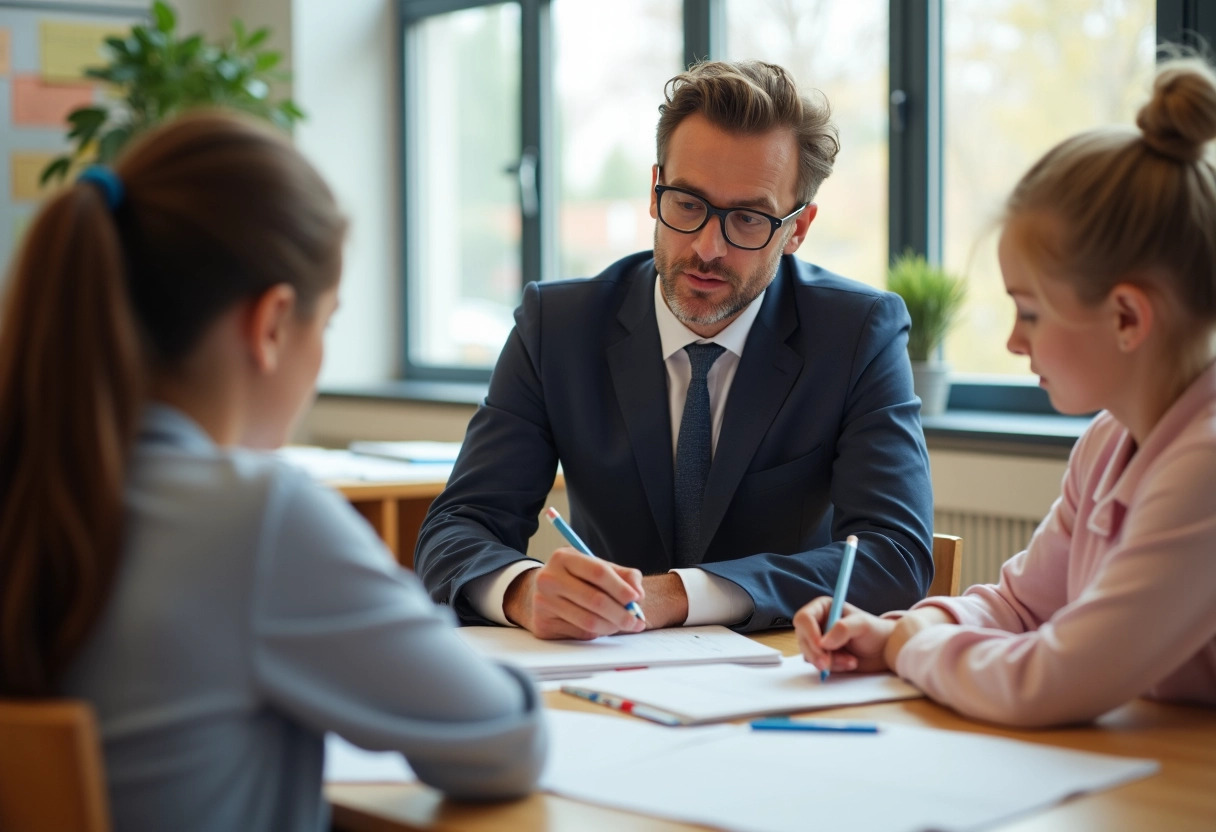
[[[996,585],[878,618],[794,618],[806,660],[885,670],[963,714],[1088,720],[1137,696],[1216,705],[1216,75],[1175,60],[1138,130],[1063,141],[998,248],[1010,352],[1065,414],[1103,412]]]

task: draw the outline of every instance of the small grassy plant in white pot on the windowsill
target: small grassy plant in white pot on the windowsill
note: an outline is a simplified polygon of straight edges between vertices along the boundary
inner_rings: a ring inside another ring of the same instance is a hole
[[[903,298],[912,319],[908,358],[921,414],[936,416],[946,410],[950,395],[950,365],[941,360],[939,347],[958,317],[967,285],[923,254],[905,252],[886,271],[886,288]]]

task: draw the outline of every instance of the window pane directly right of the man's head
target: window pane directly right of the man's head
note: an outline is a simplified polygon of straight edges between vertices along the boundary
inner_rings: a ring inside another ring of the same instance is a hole
[[[777,63],[818,89],[840,130],[835,169],[798,257],[886,282],[888,0],[726,0],[726,56]]]

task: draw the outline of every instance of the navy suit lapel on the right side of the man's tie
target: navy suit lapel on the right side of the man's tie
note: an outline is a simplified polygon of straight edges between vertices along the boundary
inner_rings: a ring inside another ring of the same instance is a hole
[[[803,369],[803,356],[786,342],[798,328],[794,311],[793,258],[783,257],[777,279],[748,333],[722,415],[714,463],[702,507],[702,552],[717,533],[743,473],[769,432]]]

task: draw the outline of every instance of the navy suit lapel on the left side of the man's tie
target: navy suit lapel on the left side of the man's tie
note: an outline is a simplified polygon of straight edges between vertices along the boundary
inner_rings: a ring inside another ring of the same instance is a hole
[[[671,415],[663,345],[654,319],[653,275],[654,260],[646,260],[631,279],[629,296],[618,314],[625,335],[608,347],[607,358],[646,499],[670,561],[675,550]]]

